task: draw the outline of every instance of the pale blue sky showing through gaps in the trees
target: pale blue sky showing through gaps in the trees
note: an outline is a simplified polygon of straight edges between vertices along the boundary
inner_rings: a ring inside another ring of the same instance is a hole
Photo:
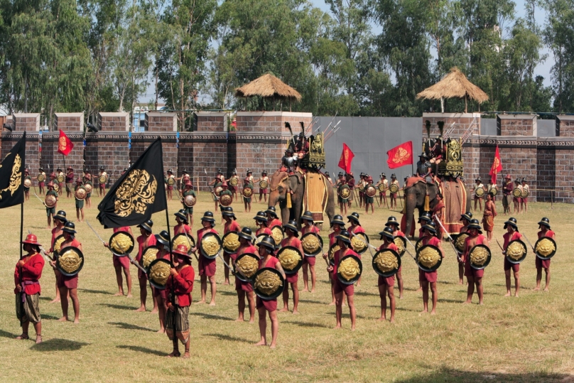
[[[329,6],[327,6],[327,4],[325,4],[324,0],[309,0],[311,4],[313,4],[313,6],[327,12],[328,14],[330,14],[330,9]],[[516,18],[519,17],[524,17],[525,14],[525,7],[524,7],[524,0],[514,0],[514,2],[516,3]],[[546,11],[544,11],[541,8],[536,9],[536,22],[538,23],[539,26],[543,26],[543,23],[546,20]],[[507,25],[504,26],[505,28],[509,28],[511,27],[511,23],[507,22]],[[380,33],[380,28],[377,26],[373,25],[373,33],[377,34]],[[550,53],[550,51],[548,50],[548,48],[544,47],[541,51],[541,55],[547,55],[548,57],[546,58],[546,61],[544,61],[541,64],[538,64],[538,66],[536,66],[536,69],[534,70],[534,76],[542,76],[544,77],[544,85],[549,86],[551,85],[551,79],[550,79],[550,70],[552,68],[552,65],[554,64],[554,60],[553,57]],[[154,87],[153,87],[153,81],[151,80],[151,77],[148,79],[149,82],[149,86],[148,89],[146,90],[146,95],[141,95],[139,97],[139,101],[140,102],[148,102],[151,99],[154,99],[155,94],[154,94]],[[200,95],[200,102],[205,103],[205,102],[209,102],[210,97],[209,95]]]

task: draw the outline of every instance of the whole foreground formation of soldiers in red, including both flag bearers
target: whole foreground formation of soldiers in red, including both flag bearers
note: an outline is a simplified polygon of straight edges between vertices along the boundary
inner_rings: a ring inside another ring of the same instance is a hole
[[[249,309],[249,322],[254,322],[254,313],[259,314],[260,340],[256,345],[267,345],[266,316],[271,320],[271,347],[276,346],[278,336],[277,298],[283,296],[283,308],[279,311],[290,311],[290,293],[293,296],[293,313],[298,313],[299,288],[298,271],[303,269],[303,291],[314,291],[316,284],[316,259],[323,257],[327,264],[330,277],[332,305],[335,305],[335,328],[342,326],[342,303],[347,300],[350,309],[351,328],[356,328],[356,308],[354,305],[354,284],[360,285],[362,275],[362,256],[368,251],[372,255],[372,266],[379,275],[378,286],[381,298],[381,317],[386,320],[386,308],[390,308],[391,322],[395,320],[396,300],[394,296],[395,279],[399,284],[399,298],[403,297],[404,281],[401,274],[401,257],[406,252],[407,243],[416,249],[413,260],[418,266],[418,279],[423,292],[423,313],[429,312],[429,291],[432,306],[430,313],[436,312],[438,301],[438,267],[442,264],[445,252],[441,240],[437,237],[437,227],[430,215],[425,212],[418,219],[421,228],[418,241],[412,244],[401,232],[399,222],[395,217],[389,217],[384,230],[379,232],[383,243],[379,247],[369,244],[367,234],[359,222],[359,214],[352,212],[347,215],[347,223],[341,215],[331,220],[332,232],[328,234],[328,247],[323,246],[320,229],[315,225],[310,212],[302,217],[301,229],[298,222],[293,220],[282,225],[274,207],[257,212],[254,217],[256,231],[249,227],[240,227],[236,221],[232,207],[222,207],[224,221],[223,235],[214,229],[215,216],[205,212],[201,218],[201,227],[195,237],[188,225],[185,211],[175,213],[177,225],[173,227],[173,238],[166,230],[153,234],[153,222],[138,225],[139,237],[134,241],[130,227],[114,228],[114,234],[104,247],[112,251],[113,266],[116,271],[118,293],[124,295],[123,276],[126,277],[127,295],[131,296],[130,264],[138,268],[140,292],[140,307],[136,311],[146,311],[148,286],[153,296],[152,313],[158,313],[159,333],[166,333],[172,341],[173,352],[170,357],[180,356],[178,342],[185,347],[183,357],[189,357],[190,328],[188,322],[189,306],[192,302],[191,293],[195,279],[195,269],[192,261],[197,261],[197,271],[200,275],[200,303],[209,302],[215,305],[217,284],[217,257],[224,262],[225,284],[229,284],[229,276],[234,276],[234,286],[237,291],[238,321],[244,321],[244,311]],[[472,212],[466,212],[460,217],[462,230],[452,241],[453,249],[459,264],[459,284],[463,276],[467,277],[467,299],[471,303],[472,296],[477,291],[479,303],[484,301],[482,278],[484,268],[489,264],[491,251],[489,241],[482,235],[478,220],[472,217]],[[22,334],[18,339],[28,339],[30,323],[36,330],[36,342],[42,341],[40,311],[38,308],[40,284],[43,266],[48,261],[56,276],[57,293],[54,301],[60,301],[63,316],[60,320],[68,320],[68,297],[72,300],[75,312],[74,323],[79,323],[80,303],[77,286],[78,273],[82,269],[84,256],[82,244],[76,239],[75,225],[67,221],[65,212],[58,211],[55,215],[56,227],[52,230],[52,239],[48,252],[43,250],[37,237],[30,233],[22,242],[26,253],[16,264],[14,282],[16,294],[16,315],[21,321]],[[348,224],[348,226],[347,226]],[[504,255],[504,272],[507,282],[507,294],[511,295],[511,270],[514,276],[514,296],[519,295],[519,269],[521,261],[526,258],[526,244],[522,239],[528,239],[519,232],[514,217],[504,222],[504,244],[501,246]],[[550,284],[550,261],[556,253],[555,234],[551,230],[548,218],[538,222],[538,241],[533,246],[536,254],[536,288],[541,288],[542,269],[546,273],[545,290]],[[301,236],[301,237],[300,237]],[[300,237],[300,239],[299,239]],[[171,241],[170,241],[171,239]],[[103,241],[102,241],[103,242]],[[138,249],[134,259],[131,252],[135,242]],[[460,243],[462,242],[462,244]],[[529,242],[530,243],[530,242]],[[171,252],[170,252],[171,249]],[[325,251],[327,249],[327,251]],[[372,252],[374,250],[374,254]],[[223,253],[221,257],[220,253]],[[310,271],[310,279],[308,276]],[[122,275],[123,274],[123,275]],[[207,284],[210,285],[210,299],[207,300]],[[386,298],[389,298],[387,305]],[[246,304],[247,300],[247,304]],[[53,302],[54,302],[53,301]]]

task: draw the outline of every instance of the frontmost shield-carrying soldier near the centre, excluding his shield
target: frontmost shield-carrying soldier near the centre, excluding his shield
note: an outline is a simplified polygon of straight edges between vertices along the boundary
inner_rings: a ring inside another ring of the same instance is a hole
[[[285,272],[281,267],[281,262],[274,257],[275,241],[272,237],[263,237],[259,242],[259,270],[269,267],[276,269],[286,279]],[[285,286],[284,288],[286,288]],[[267,345],[267,319],[265,312],[269,313],[269,320],[271,320],[271,345],[269,347],[275,348],[277,346],[277,335],[279,333],[279,320],[277,318],[277,298],[274,299],[261,299],[259,296],[256,299],[257,314],[259,315],[259,334],[261,340],[256,342],[256,346]]]

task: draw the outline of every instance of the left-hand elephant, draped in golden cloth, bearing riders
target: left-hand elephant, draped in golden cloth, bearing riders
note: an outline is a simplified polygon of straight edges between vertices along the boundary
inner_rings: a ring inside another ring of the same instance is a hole
[[[288,183],[288,184],[287,184]],[[293,190],[291,195],[291,209],[287,207],[287,186]],[[271,176],[269,185],[269,207],[275,206],[279,203],[281,207],[281,221],[286,224],[288,220],[295,220],[298,227],[300,227],[300,216],[303,213],[303,195],[305,194],[305,179],[300,173],[289,175],[284,171],[276,171]],[[330,187],[327,181],[327,206],[325,213],[329,218],[329,222],[335,215],[335,197],[333,188]]]

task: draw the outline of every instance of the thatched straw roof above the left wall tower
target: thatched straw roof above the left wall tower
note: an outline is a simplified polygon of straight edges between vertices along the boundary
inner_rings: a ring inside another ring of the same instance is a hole
[[[253,96],[289,100],[289,110],[291,110],[291,101],[299,102],[301,100],[299,92],[270,73],[266,73],[235,90],[235,97]]]

